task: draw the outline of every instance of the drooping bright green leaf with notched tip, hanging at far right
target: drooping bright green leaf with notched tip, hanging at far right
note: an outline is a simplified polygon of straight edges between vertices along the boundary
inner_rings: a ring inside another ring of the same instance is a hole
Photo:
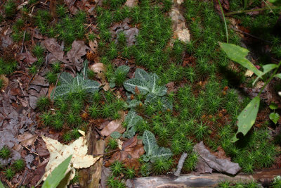
[[[241,132],[243,135],[246,135],[247,132],[251,129],[251,126],[254,125],[256,121],[256,115],[259,111],[259,102],[260,102],[259,96],[256,96],[254,99],[252,99],[249,104],[244,108],[244,110],[238,115],[238,130],[233,137],[233,142],[236,142],[237,134]]]

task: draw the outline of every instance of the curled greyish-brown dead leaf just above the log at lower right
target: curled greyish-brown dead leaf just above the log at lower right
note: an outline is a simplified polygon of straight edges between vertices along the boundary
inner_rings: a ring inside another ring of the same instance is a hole
[[[194,151],[199,154],[196,170],[198,173],[211,173],[216,170],[221,173],[235,175],[241,170],[238,163],[228,159],[221,159],[213,154],[200,142],[194,146]]]

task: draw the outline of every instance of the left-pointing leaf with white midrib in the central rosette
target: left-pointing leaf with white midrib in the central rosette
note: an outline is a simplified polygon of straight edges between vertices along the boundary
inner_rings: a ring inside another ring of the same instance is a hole
[[[138,78],[132,78],[130,80],[126,80],[124,82],[124,87],[127,91],[133,94],[136,94],[135,92],[136,87],[138,87],[138,90],[140,91],[141,94],[147,94],[148,92],[150,92],[149,83],[140,80]]]

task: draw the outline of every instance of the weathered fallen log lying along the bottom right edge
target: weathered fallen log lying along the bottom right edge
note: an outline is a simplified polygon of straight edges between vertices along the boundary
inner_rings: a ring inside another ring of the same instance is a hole
[[[222,181],[229,182],[260,182],[268,186],[273,178],[281,174],[281,169],[269,169],[256,172],[254,175],[239,174],[235,176],[223,175],[220,173],[195,175],[162,175],[155,177],[139,177],[126,181],[126,186],[129,188],[164,188],[164,187],[218,187]]]

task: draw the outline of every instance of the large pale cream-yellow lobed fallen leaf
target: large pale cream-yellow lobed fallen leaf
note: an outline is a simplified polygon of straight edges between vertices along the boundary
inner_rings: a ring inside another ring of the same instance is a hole
[[[72,155],[70,164],[73,168],[89,168],[89,166],[96,163],[96,161],[100,158],[100,156],[93,157],[86,154],[88,147],[86,146],[85,137],[79,137],[79,139],[68,145],[60,144],[57,140],[48,137],[42,136],[42,138],[44,139],[44,142],[46,142],[46,147],[50,152],[50,160],[48,165],[46,165],[44,175],[37,184],[40,184],[42,180],[46,180],[46,177],[55,169],[55,167],[65,161],[65,159],[70,155]],[[67,168],[67,172],[70,172],[72,167],[69,166]],[[74,177],[74,169],[72,170],[72,174],[73,176],[70,176],[70,180]]]

